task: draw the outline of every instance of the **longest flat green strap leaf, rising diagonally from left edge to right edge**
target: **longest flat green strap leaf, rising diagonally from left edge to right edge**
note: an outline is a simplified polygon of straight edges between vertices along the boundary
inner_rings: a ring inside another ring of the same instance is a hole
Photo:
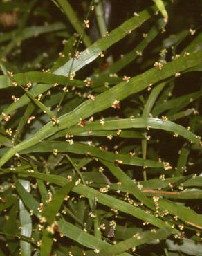
[[[172,62],[165,64],[162,70],[158,68],[152,68],[145,73],[138,75],[131,79],[129,83],[122,82],[117,84],[112,89],[101,93],[93,100],[87,100],[80,104],[74,111],[67,113],[59,118],[59,126],[53,127],[52,122],[49,122],[41,130],[39,130],[32,138],[19,143],[16,147],[10,149],[0,160],[0,167],[8,161],[16,152],[22,149],[26,149],[31,145],[35,145],[39,140],[47,138],[51,134],[55,134],[56,131],[62,130],[66,127],[71,127],[80,121],[80,118],[87,118],[93,113],[98,113],[104,109],[107,109],[113,105],[116,100],[123,100],[133,93],[137,93],[147,88],[151,82],[155,83],[160,80],[166,79],[176,72],[186,70],[191,66],[196,66],[202,60],[202,51],[190,54],[188,56],[179,57]],[[149,81],[149,82],[148,82]]]

